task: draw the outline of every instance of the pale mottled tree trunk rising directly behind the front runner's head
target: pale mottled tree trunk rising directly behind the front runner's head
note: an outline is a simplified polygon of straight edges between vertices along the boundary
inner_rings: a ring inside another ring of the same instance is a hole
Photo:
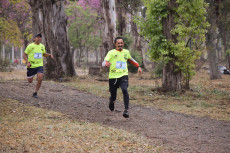
[[[115,0],[101,0],[103,50],[104,53],[114,48],[113,40],[116,32],[116,6]],[[103,57],[104,58],[104,57]]]

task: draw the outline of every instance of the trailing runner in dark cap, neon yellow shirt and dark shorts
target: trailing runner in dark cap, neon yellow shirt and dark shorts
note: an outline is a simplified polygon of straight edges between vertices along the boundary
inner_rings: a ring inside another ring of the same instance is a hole
[[[27,80],[29,83],[33,82],[33,77],[37,74],[37,84],[34,98],[38,98],[37,92],[42,84],[43,78],[43,56],[53,58],[52,54],[46,53],[45,46],[41,44],[42,35],[37,34],[34,37],[34,42],[26,47],[23,58],[27,65]],[[27,57],[28,56],[28,57]]]

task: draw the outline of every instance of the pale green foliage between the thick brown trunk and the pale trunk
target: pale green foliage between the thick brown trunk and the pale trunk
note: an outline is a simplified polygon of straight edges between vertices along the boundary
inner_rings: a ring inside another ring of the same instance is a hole
[[[77,3],[70,3],[66,9],[69,18],[69,40],[74,48],[95,47],[101,39],[96,32],[97,14]]]

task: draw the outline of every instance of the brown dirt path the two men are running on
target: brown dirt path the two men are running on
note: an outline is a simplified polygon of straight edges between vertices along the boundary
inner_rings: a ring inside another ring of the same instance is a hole
[[[0,96],[59,111],[73,119],[132,131],[178,152],[230,152],[230,122],[164,112],[132,103],[130,118],[125,119],[121,102],[110,112],[108,99],[55,82],[43,82],[39,98],[34,99],[31,97],[34,86],[25,81],[0,82]]]

